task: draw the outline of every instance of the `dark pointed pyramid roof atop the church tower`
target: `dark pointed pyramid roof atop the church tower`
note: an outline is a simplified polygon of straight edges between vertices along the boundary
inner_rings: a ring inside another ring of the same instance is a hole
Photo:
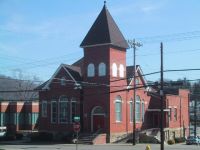
[[[104,4],[96,21],[81,43],[81,47],[110,44],[120,48],[128,48],[128,44],[117,24]]]

